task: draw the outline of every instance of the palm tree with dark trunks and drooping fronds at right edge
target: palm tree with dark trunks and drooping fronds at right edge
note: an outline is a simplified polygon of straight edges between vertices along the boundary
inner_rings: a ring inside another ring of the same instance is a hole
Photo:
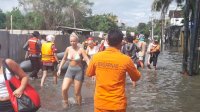
[[[169,5],[174,0],[154,0],[152,4],[152,10],[153,11],[161,11],[161,17],[163,14],[165,14],[168,10]],[[189,61],[189,75],[192,75],[193,73],[197,73],[199,70],[199,62],[195,60],[199,60],[197,56],[195,56],[197,53],[195,52],[197,45],[199,44],[197,37],[199,32],[198,25],[200,20],[200,0],[176,0],[176,2],[182,3],[185,1],[185,10],[184,10],[184,20],[185,20],[185,32],[184,32],[184,51],[183,51],[183,72],[187,71],[187,58],[190,58]],[[194,26],[191,28],[191,36],[189,37],[189,22],[194,23]],[[190,54],[188,54],[188,39],[190,38]],[[194,69],[195,68],[195,69]]]

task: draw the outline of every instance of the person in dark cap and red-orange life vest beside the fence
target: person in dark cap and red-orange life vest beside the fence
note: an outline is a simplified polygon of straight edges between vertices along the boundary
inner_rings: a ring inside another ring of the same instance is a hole
[[[31,61],[32,65],[32,73],[30,74],[30,77],[38,78],[38,72],[40,70],[40,55],[41,55],[41,42],[39,39],[40,33],[38,31],[34,31],[32,33],[31,38],[25,43],[24,50],[28,52],[27,57]]]

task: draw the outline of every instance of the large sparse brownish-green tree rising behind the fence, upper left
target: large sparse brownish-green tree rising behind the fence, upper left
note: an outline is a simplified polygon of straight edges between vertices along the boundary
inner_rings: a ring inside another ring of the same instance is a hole
[[[26,11],[38,12],[44,17],[44,29],[54,29],[76,18],[82,18],[91,11],[89,0],[18,0]],[[72,16],[71,16],[72,15]],[[73,18],[73,19],[72,19]]]

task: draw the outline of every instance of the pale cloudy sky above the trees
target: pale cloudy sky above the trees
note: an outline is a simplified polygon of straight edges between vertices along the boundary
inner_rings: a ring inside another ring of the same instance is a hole
[[[93,14],[112,13],[117,15],[119,20],[127,26],[137,26],[140,22],[150,20],[151,4],[153,0],[91,0],[94,2],[92,7]],[[18,6],[17,0],[0,0],[0,8],[6,12]],[[173,3],[170,9],[175,9]],[[155,14],[159,18],[159,14]]]

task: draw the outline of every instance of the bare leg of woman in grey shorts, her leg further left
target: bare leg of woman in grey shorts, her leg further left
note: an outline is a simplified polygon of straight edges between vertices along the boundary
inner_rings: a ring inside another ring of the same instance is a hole
[[[63,84],[62,84],[63,108],[67,108],[69,106],[68,90],[69,90],[69,87],[70,87],[72,82],[73,82],[73,80],[71,78],[68,78],[68,77],[65,77],[64,80],[63,80]]]

